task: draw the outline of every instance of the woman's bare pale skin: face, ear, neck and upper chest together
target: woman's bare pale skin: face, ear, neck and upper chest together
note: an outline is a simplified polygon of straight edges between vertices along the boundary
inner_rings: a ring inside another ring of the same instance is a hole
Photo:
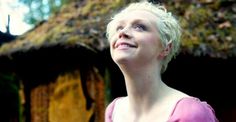
[[[162,46],[156,20],[148,11],[135,10],[117,21],[110,51],[124,75],[128,96],[116,102],[114,122],[165,122],[177,101],[188,97],[161,80],[161,61],[171,43]]]

